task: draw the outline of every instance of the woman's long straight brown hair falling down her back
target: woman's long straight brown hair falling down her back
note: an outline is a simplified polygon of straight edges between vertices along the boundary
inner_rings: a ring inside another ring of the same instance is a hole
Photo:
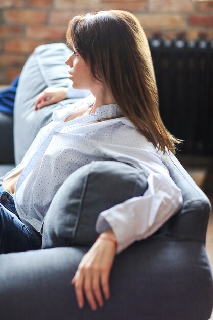
[[[180,143],[165,128],[147,37],[138,19],[122,10],[98,11],[74,17],[66,41],[88,62],[126,116],[148,141],[165,153]]]

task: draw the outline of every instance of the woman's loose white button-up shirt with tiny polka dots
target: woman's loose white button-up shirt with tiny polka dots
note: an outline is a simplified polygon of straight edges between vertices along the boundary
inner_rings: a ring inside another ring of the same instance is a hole
[[[154,233],[180,209],[182,196],[153,144],[122,116],[116,104],[100,106],[95,113],[64,122],[74,110],[91,105],[93,99],[90,95],[53,112],[53,121],[39,131],[20,164],[26,166],[17,181],[14,201],[21,220],[41,232],[54,195],[78,168],[109,158],[141,168],[148,178],[144,196],[102,212],[97,221],[99,233],[112,227],[120,252],[133,241]],[[108,117],[117,118],[97,122]]]

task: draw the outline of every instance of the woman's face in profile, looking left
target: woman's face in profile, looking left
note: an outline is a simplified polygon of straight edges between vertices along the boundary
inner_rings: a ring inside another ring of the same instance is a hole
[[[84,61],[78,52],[74,50],[72,55],[65,62],[70,66],[69,79],[72,81],[74,89],[92,89],[95,79],[91,74],[89,65]]]

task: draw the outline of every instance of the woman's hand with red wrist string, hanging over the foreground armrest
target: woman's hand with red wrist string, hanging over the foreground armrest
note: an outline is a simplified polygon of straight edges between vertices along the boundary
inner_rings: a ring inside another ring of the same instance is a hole
[[[75,285],[79,308],[84,306],[84,293],[92,310],[97,309],[97,302],[100,307],[103,306],[102,291],[105,298],[109,299],[108,281],[115,253],[116,239],[110,229],[100,235],[82,258],[78,270],[71,281]]]

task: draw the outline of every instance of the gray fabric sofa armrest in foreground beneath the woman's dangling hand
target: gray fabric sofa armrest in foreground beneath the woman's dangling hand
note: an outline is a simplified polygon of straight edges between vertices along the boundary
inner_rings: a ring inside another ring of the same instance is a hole
[[[0,317],[4,320],[207,320],[212,279],[199,242],[151,237],[117,255],[110,299],[80,310],[70,280],[85,247],[0,256]]]

